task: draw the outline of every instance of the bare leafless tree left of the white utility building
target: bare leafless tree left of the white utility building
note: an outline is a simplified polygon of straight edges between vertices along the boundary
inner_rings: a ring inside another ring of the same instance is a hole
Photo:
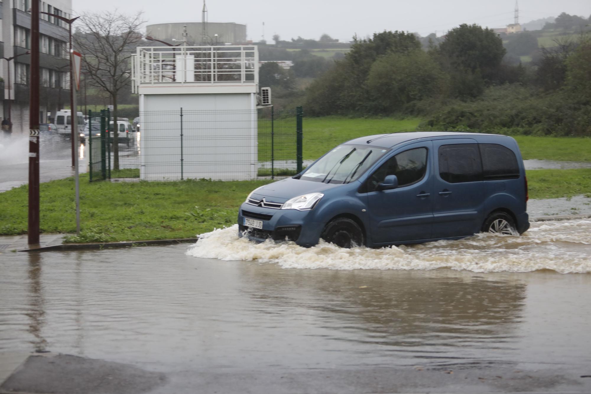
[[[82,68],[89,86],[107,92],[113,105],[113,169],[119,169],[117,98],[131,85],[131,55],[142,43],[142,12],[135,15],[117,11],[89,12],[80,17],[74,49],[83,57]]]

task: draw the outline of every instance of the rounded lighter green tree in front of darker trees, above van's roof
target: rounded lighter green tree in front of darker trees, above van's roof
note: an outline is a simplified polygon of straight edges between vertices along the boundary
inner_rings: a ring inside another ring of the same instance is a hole
[[[369,71],[367,86],[375,111],[389,114],[412,101],[439,95],[445,79],[439,64],[419,49],[379,57]]]

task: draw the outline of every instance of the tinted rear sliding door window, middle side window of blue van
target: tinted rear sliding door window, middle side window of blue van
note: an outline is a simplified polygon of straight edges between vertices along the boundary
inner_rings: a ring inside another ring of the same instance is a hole
[[[439,147],[439,176],[449,183],[482,180],[478,144],[454,144]]]

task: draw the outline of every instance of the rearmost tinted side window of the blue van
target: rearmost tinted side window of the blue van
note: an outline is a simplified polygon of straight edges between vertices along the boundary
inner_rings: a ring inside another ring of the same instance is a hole
[[[519,165],[515,153],[498,144],[479,144],[484,179],[517,179]]]

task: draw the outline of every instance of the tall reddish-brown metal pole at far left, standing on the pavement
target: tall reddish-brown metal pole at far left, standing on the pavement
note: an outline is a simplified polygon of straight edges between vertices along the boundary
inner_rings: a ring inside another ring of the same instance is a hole
[[[31,5],[28,243],[39,243],[39,2]]]

